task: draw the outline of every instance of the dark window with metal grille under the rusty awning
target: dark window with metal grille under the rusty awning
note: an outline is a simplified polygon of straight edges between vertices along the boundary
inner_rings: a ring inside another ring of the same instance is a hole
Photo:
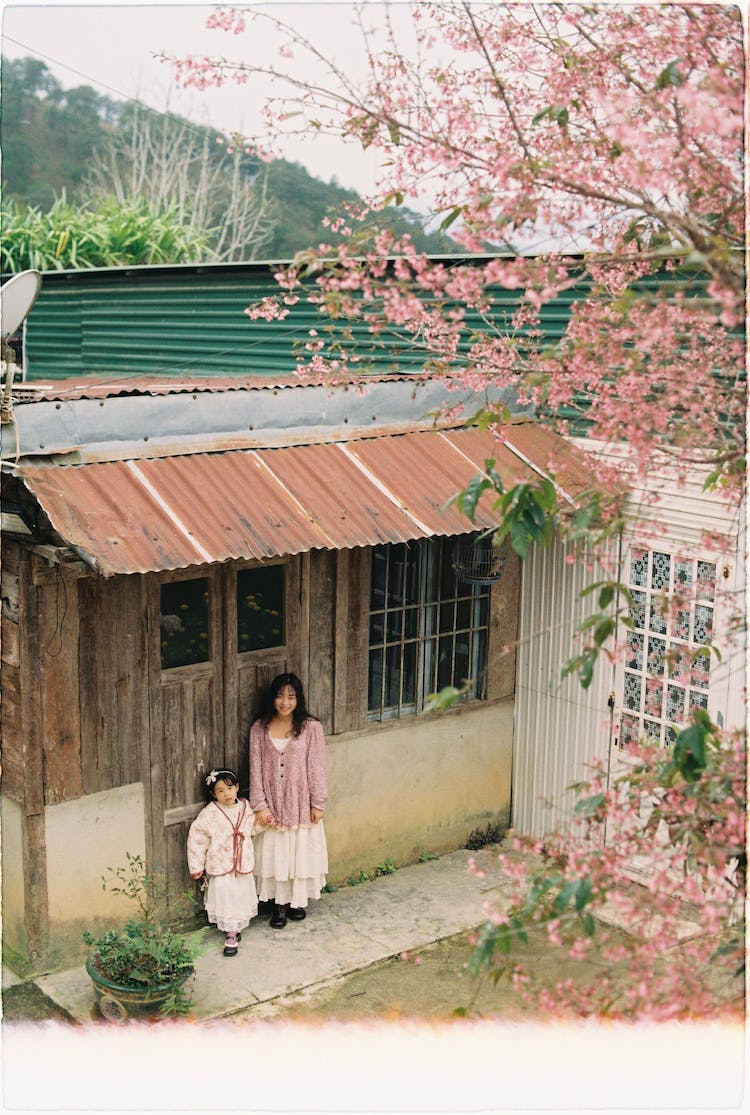
[[[471,685],[484,698],[489,589],[456,573],[458,539],[423,539],[372,550],[368,716],[420,711],[444,686]]]

